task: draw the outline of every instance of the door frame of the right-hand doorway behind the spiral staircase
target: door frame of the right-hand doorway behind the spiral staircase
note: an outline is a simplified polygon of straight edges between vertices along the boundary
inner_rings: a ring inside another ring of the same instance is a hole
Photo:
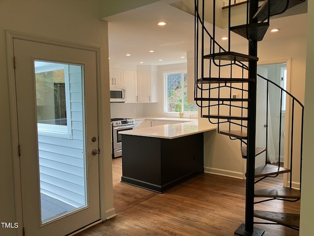
[[[287,63],[287,91],[290,92],[290,85],[291,85],[291,58],[276,60],[276,61],[263,61],[258,62],[258,65],[269,65],[269,64],[281,64]],[[289,134],[290,132],[290,99],[286,101],[286,116],[285,116],[285,132]],[[284,167],[289,169],[288,167],[288,153],[289,153],[289,135],[285,135],[285,148],[284,148]],[[284,187],[288,186],[288,174],[284,174]]]

